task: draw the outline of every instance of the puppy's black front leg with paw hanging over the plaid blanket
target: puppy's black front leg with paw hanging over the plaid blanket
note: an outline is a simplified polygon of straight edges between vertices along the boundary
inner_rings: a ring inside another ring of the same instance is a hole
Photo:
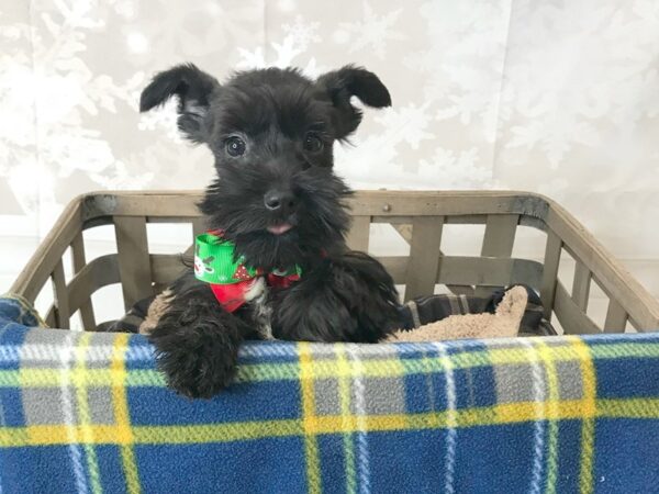
[[[148,336],[167,383],[189,397],[211,397],[235,371],[248,325],[225,312],[208,284],[177,283],[174,296]]]

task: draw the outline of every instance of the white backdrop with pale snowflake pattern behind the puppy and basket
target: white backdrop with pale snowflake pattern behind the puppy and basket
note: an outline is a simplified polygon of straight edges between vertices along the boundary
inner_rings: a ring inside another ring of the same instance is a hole
[[[208,182],[171,105],[136,110],[181,61],[364,65],[394,104],[337,149],[354,187],[548,194],[659,295],[654,0],[0,0],[0,291],[76,194]]]

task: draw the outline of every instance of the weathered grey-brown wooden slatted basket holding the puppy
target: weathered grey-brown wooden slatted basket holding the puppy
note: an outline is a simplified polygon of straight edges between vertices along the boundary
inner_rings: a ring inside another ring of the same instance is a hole
[[[96,321],[91,294],[121,283],[129,308],[172,281],[182,270],[181,256],[150,254],[146,225],[190,223],[197,235],[203,231],[194,205],[200,199],[200,192],[177,191],[79,197],[66,207],[11,290],[34,302],[51,278],[54,303],[46,323],[69,328],[71,315],[79,312],[86,330],[102,330],[112,322]],[[484,293],[526,283],[539,292],[545,316],[557,317],[566,333],[621,333],[628,324],[637,330],[659,328],[657,301],[579,222],[547,198],[499,191],[362,191],[349,202],[351,248],[368,250],[371,223],[391,224],[410,244],[410,256],[380,257],[395,282],[405,285],[406,299],[433,293],[437,284],[459,293]],[[86,262],[82,231],[108,224],[114,225],[118,252]],[[442,234],[449,224],[484,224],[480,256],[442,252]],[[546,234],[539,257],[544,261],[512,257],[518,226]],[[63,256],[69,247],[74,277],[67,283]],[[562,252],[576,262],[571,288],[557,276]],[[592,283],[608,297],[603,325],[587,315]]]

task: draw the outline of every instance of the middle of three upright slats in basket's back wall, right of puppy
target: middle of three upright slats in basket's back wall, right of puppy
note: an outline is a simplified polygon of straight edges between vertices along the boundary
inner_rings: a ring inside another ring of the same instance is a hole
[[[412,243],[405,283],[405,300],[431,295],[439,267],[443,216],[418,216],[412,223]]]

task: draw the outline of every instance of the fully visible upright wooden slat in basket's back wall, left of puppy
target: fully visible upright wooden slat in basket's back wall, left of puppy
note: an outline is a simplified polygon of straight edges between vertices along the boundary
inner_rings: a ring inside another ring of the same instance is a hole
[[[119,274],[127,311],[142,299],[153,295],[146,220],[142,216],[114,218]]]

